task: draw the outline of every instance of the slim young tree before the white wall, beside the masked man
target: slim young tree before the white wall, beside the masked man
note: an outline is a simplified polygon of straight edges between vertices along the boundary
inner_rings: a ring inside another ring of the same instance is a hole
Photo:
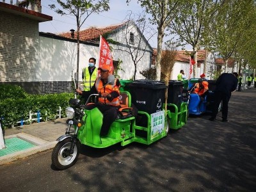
[[[57,0],[60,8],[56,8],[55,4],[49,4],[52,10],[61,15],[72,15],[76,17],[76,39],[77,39],[77,75],[79,75],[79,33],[85,20],[92,15],[92,13],[100,13],[109,10],[109,0]],[[76,83],[78,88],[78,81]]]

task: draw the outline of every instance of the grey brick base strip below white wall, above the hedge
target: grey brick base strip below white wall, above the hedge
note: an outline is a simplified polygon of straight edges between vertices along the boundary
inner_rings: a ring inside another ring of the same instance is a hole
[[[40,93],[72,93],[72,82],[67,81],[42,81],[40,82]]]

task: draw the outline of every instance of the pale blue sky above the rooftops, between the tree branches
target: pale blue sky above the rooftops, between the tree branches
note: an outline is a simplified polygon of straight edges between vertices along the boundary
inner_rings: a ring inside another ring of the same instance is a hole
[[[90,17],[88,17],[88,19],[86,19],[81,29],[90,28],[92,26],[104,27],[120,24],[121,22],[124,22],[125,16],[127,16],[131,10],[133,13],[141,13],[143,11],[140,4],[138,4],[136,0],[132,0],[129,5],[127,5],[125,2],[126,0],[110,0],[110,10],[108,12],[102,12],[99,14],[93,13],[90,15]],[[76,20],[74,16],[61,16],[49,8],[49,4],[56,4],[56,6],[58,6],[56,0],[42,0],[41,4],[42,13],[45,15],[51,15],[52,21],[41,22],[39,24],[39,31],[45,33],[62,33],[67,32],[70,29],[76,30]],[[155,35],[149,43],[152,45],[152,47],[157,47],[157,35]]]

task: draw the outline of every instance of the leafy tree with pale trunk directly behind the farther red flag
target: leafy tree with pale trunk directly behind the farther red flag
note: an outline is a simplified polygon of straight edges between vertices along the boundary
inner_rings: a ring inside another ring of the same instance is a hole
[[[175,14],[168,30],[175,43],[179,46],[191,45],[193,52],[191,56],[197,63],[197,51],[205,46],[204,36],[209,35],[207,26],[211,25],[212,16],[218,10],[223,1],[191,0],[180,6],[180,11]],[[205,27],[206,26],[206,27]],[[193,75],[197,77],[197,65],[194,65]]]

